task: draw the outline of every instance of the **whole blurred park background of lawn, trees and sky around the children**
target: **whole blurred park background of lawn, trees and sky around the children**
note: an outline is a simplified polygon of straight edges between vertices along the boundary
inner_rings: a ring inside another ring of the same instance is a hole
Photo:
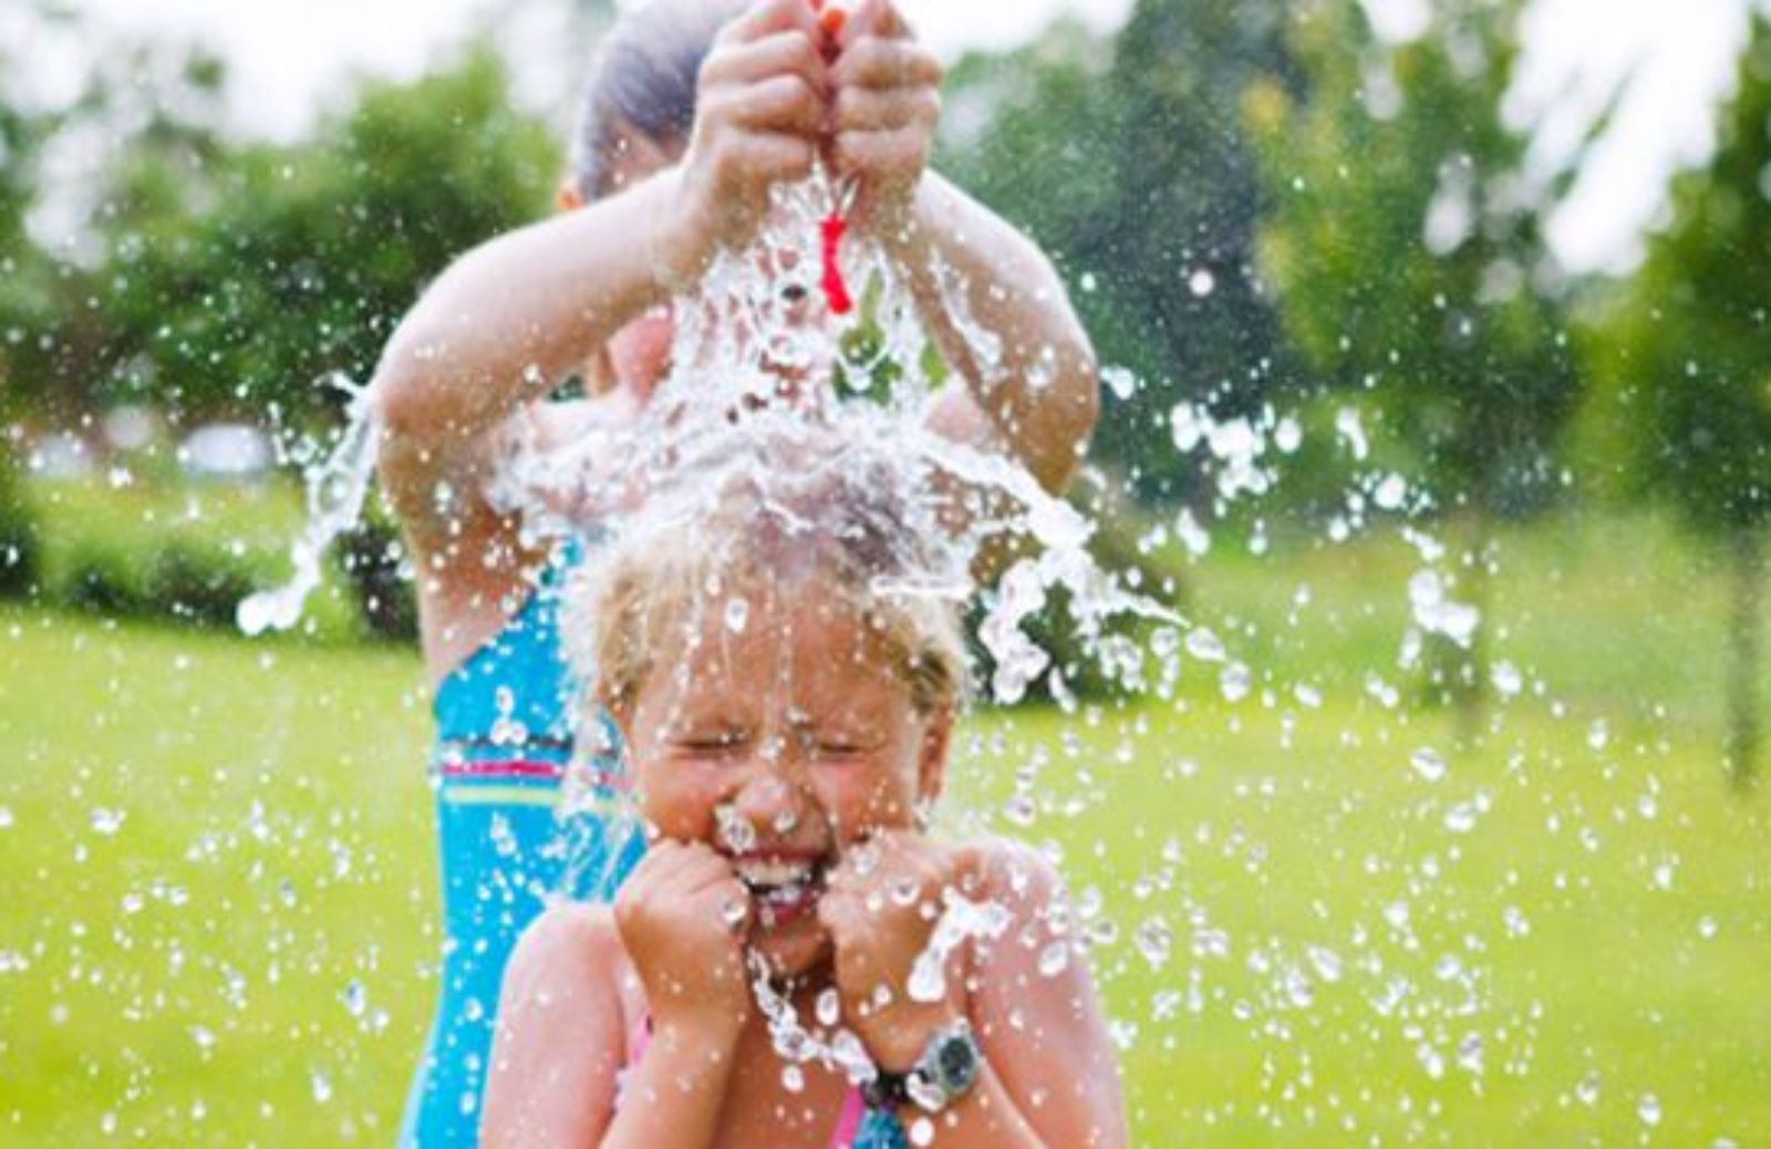
[[[1098,552],[1195,625],[962,751],[958,818],[1066,857],[1139,1144],[1766,1144],[1767,14],[903,7],[937,166],[1107,366]],[[5,1144],[391,1140],[439,937],[390,521],[298,634],[234,614],[328,381],[549,211],[609,18],[0,9]]]

